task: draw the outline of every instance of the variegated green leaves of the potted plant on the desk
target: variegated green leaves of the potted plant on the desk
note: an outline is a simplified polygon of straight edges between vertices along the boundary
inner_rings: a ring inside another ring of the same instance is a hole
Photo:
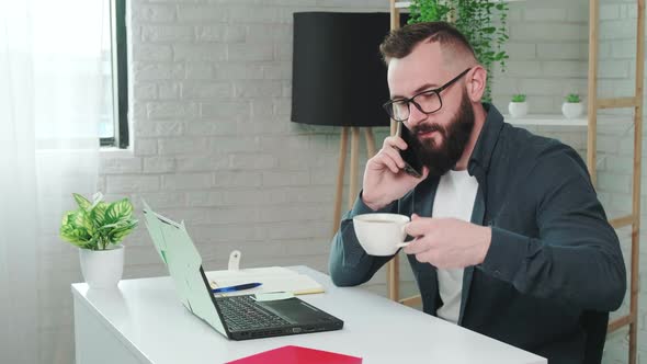
[[[105,250],[137,227],[128,198],[107,203],[102,201],[101,193],[94,194],[92,202],[80,194],[72,195],[79,208],[64,215],[60,238],[81,249]]]

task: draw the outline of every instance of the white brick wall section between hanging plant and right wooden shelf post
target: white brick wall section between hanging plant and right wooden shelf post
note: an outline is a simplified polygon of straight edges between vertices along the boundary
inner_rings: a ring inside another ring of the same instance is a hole
[[[587,91],[588,2],[510,2],[507,70],[493,71],[495,105],[507,113],[525,93],[531,112],[560,113],[566,94]]]

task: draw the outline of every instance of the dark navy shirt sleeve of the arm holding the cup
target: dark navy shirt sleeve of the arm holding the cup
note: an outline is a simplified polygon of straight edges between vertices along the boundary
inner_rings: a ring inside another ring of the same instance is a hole
[[[620,242],[583,161],[565,149],[540,158],[525,180],[535,200],[538,238],[492,227],[479,268],[521,293],[612,311],[626,291]]]

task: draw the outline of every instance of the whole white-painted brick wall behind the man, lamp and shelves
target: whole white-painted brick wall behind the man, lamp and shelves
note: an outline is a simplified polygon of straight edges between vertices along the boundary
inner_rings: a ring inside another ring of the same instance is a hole
[[[603,7],[601,69],[609,76],[601,89],[632,84],[631,49],[623,41],[632,37],[627,3]],[[129,196],[138,207],[144,197],[162,214],[184,219],[207,270],[224,269],[229,251],[240,249],[243,266],[307,264],[327,271],[340,130],[290,122],[292,14],[386,11],[387,1],[130,4],[134,148],[102,153],[100,190],[107,198]],[[495,75],[495,104],[502,112],[513,93],[526,93],[531,110],[543,113],[558,113],[568,92],[586,94],[588,1],[512,2],[510,30],[508,70]],[[583,128],[532,129],[583,153]],[[599,191],[608,208],[629,198],[631,136],[623,130],[600,130],[599,149],[606,157]],[[378,145],[386,134],[377,130]],[[144,226],[126,244],[125,277],[167,274]],[[70,247],[43,260],[65,269],[45,277],[42,288],[41,359],[68,363],[73,360],[69,282],[80,281],[78,258]],[[402,273],[410,281],[407,264]],[[385,294],[384,273],[368,287]],[[407,282],[404,291],[415,292]],[[644,333],[647,297],[642,302]],[[622,337],[613,337],[605,363],[625,362],[624,345]],[[647,352],[647,345],[640,350]]]

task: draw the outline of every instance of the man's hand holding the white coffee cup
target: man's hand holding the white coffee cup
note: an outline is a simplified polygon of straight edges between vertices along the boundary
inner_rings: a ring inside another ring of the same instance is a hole
[[[465,268],[483,263],[490,248],[492,231],[456,218],[411,216],[405,230],[415,237],[404,250],[422,263],[436,268]]]

